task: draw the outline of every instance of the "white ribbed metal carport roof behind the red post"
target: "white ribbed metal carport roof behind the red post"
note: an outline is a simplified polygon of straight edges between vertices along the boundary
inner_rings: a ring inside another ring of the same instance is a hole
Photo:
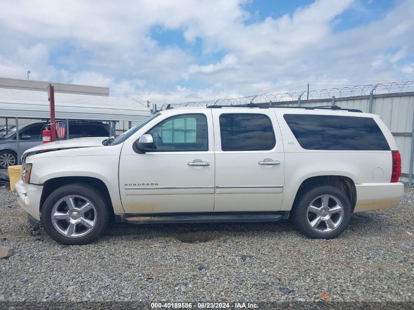
[[[55,93],[56,119],[142,121],[149,108],[132,98]],[[48,93],[0,89],[0,118],[49,119]]]

